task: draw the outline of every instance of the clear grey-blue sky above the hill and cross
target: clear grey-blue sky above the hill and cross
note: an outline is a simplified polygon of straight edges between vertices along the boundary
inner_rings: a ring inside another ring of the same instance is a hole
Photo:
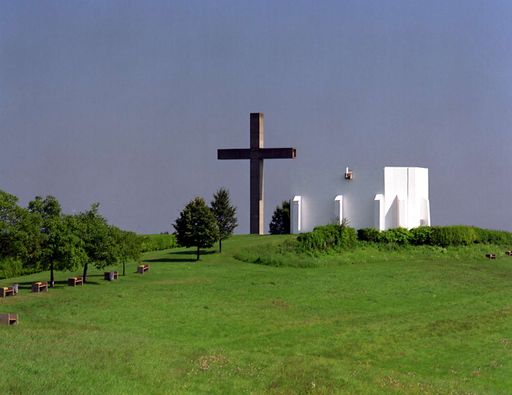
[[[512,230],[512,2],[0,0],[0,189],[172,231],[227,187],[248,232],[249,113],[266,220],[301,169],[430,169],[433,224]],[[340,159],[341,158],[341,159]]]

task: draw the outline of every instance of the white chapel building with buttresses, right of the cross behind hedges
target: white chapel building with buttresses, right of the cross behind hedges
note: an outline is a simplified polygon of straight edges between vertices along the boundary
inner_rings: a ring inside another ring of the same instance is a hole
[[[306,182],[305,180],[308,180]],[[292,180],[291,232],[341,223],[378,230],[430,225],[428,169],[350,169]]]

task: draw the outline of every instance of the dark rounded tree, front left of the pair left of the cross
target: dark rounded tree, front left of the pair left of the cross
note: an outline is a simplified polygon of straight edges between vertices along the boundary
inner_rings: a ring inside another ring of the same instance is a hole
[[[212,247],[219,238],[217,221],[201,197],[196,197],[185,206],[173,226],[179,245],[197,247],[197,260],[199,249]]]

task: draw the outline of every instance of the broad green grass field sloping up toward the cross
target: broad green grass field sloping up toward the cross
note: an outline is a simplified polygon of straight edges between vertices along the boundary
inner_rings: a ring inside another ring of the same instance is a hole
[[[0,312],[8,394],[512,393],[512,258],[482,247],[365,247],[315,267],[241,262],[280,237],[223,253],[146,253],[151,270],[29,293]],[[488,252],[488,251],[487,251]],[[293,259],[289,256],[287,259]],[[301,258],[306,259],[306,258]],[[77,272],[76,274],[79,274]]]

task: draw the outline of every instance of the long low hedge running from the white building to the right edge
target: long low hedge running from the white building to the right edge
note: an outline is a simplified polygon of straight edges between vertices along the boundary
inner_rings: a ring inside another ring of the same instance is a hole
[[[361,241],[373,243],[433,245],[440,247],[464,246],[475,243],[512,245],[511,232],[463,225],[421,226],[411,230],[395,228],[385,231],[363,228],[357,231],[357,238]]]

